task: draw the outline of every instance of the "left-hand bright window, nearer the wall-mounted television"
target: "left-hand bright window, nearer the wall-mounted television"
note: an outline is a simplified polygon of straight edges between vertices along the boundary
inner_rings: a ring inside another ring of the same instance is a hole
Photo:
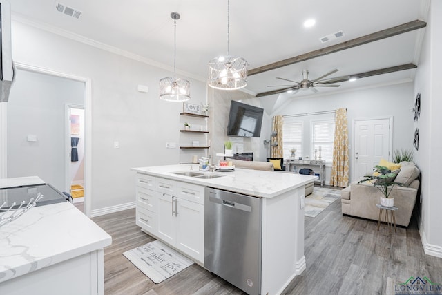
[[[302,157],[302,122],[285,120],[282,126],[282,140],[285,159],[290,158],[290,149],[296,149],[296,158]]]

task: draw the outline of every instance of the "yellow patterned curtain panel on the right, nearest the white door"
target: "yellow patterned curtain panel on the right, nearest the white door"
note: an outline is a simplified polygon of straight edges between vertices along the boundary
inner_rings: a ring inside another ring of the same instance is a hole
[[[347,109],[336,110],[333,143],[333,166],[330,185],[347,187],[349,182]]]

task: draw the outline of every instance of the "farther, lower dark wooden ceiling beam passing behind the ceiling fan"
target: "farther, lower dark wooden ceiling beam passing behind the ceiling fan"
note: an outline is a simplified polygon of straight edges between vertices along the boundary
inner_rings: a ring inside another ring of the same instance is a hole
[[[320,82],[320,85],[327,85],[327,84],[346,82],[350,78],[361,79],[361,78],[365,78],[365,77],[371,77],[371,76],[376,76],[376,75],[383,75],[383,74],[387,74],[387,73],[394,73],[394,72],[398,72],[400,70],[410,70],[412,68],[417,68],[417,66],[415,64],[402,64],[401,66],[390,66],[389,68],[381,68],[379,70],[369,70],[368,72],[364,72],[364,73],[358,73],[358,74],[341,76],[341,77],[336,77],[336,78],[332,78],[332,79],[323,80],[323,81]],[[284,93],[284,92],[289,91],[290,89],[294,89],[295,86],[296,85],[291,86],[291,87],[276,89],[276,90],[273,90],[273,91],[266,91],[266,92],[258,93],[258,94],[256,94],[256,97],[262,97],[262,96],[268,96],[268,95],[273,95],[273,94],[278,94],[278,93]]]

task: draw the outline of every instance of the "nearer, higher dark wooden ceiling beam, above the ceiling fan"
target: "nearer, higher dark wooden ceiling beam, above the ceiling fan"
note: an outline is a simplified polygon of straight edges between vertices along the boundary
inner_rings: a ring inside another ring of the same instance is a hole
[[[374,32],[369,35],[365,35],[363,37],[358,37],[349,41],[345,41],[340,44],[335,44],[332,46],[328,46],[322,49],[314,50],[309,53],[304,53],[302,55],[298,55],[296,57],[290,57],[289,59],[284,59],[282,61],[276,61],[272,64],[267,64],[266,66],[260,66],[259,68],[253,68],[248,71],[247,75],[256,75],[259,73],[267,72],[267,70],[274,70],[276,68],[282,68],[283,66],[289,66],[291,64],[296,64],[300,61],[306,61],[308,59],[314,59],[315,57],[320,57],[323,55],[328,55],[330,53],[336,53],[340,50],[349,49],[352,47],[360,46],[363,44],[367,44],[370,42],[378,41],[381,39],[393,37],[396,35],[403,34],[404,32],[410,32],[412,30],[417,30],[420,28],[425,28],[427,23],[425,21],[415,20],[410,21],[408,23],[403,23],[399,26],[395,26],[392,28],[387,28],[385,30],[380,30],[378,32]]]

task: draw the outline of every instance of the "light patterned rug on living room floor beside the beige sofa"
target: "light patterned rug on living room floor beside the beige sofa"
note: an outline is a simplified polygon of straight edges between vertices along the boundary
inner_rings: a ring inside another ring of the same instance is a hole
[[[313,193],[305,197],[305,216],[316,217],[321,211],[329,207],[332,202],[338,200],[338,198],[340,198],[339,189],[314,187]]]

